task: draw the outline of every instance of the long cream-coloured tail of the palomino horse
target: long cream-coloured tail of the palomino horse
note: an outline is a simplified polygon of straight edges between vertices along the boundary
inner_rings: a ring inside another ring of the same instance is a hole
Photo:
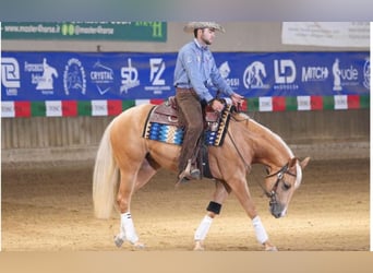
[[[93,202],[95,216],[108,218],[115,204],[115,194],[119,181],[119,169],[112,154],[110,129],[106,128],[99,143],[93,174]]]

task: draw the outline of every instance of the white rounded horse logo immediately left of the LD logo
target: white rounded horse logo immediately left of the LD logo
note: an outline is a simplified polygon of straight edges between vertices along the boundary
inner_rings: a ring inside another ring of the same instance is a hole
[[[269,84],[264,84],[263,80],[267,76],[265,66],[261,61],[254,61],[243,72],[243,85],[250,88],[269,88]]]

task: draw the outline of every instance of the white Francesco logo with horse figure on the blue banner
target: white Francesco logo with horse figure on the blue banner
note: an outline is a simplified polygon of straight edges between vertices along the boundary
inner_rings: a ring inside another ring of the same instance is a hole
[[[31,73],[32,84],[36,85],[36,90],[44,95],[53,94],[55,79],[58,78],[57,69],[48,63],[47,58],[43,59],[43,63],[24,63],[24,71]]]

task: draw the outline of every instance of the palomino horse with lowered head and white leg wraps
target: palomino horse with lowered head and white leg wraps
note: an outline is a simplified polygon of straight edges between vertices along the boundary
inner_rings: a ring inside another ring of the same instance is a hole
[[[117,247],[124,240],[137,248],[144,247],[131,217],[132,194],[160,168],[177,171],[180,146],[142,136],[153,107],[148,104],[135,106],[116,117],[107,127],[98,147],[93,177],[95,215],[108,218],[117,203],[121,213],[120,233],[115,238]],[[233,112],[224,144],[209,146],[208,159],[216,187],[207,214],[195,232],[194,249],[203,250],[213,218],[219,214],[228,194],[233,192],[251,218],[258,242],[265,250],[276,250],[250,195],[246,174],[251,164],[266,166],[268,175],[260,185],[270,199],[272,214],[281,217],[301,183],[302,168],[310,158],[300,162],[277,134],[246,115]]]

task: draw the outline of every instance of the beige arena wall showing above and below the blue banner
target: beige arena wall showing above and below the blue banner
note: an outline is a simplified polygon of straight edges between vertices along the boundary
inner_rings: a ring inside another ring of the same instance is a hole
[[[222,23],[213,51],[353,51],[361,48],[289,46],[281,44],[281,23]],[[166,43],[2,40],[4,51],[135,51],[176,52],[192,37],[183,23],[168,23]],[[369,50],[369,48],[363,49]],[[369,157],[370,109],[250,112],[277,132],[301,155],[318,158]],[[2,118],[2,162],[91,159],[112,117]],[[327,145],[327,149],[325,149]],[[332,149],[330,149],[332,147]],[[329,150],[328,150],[329,149]],[[342,150],[348,150],[346,153]],[[351,152],[354,149],[353,153]],[[329,151],[329,153],[327,152]],[[334,151],[334,152],[333,152]]]

